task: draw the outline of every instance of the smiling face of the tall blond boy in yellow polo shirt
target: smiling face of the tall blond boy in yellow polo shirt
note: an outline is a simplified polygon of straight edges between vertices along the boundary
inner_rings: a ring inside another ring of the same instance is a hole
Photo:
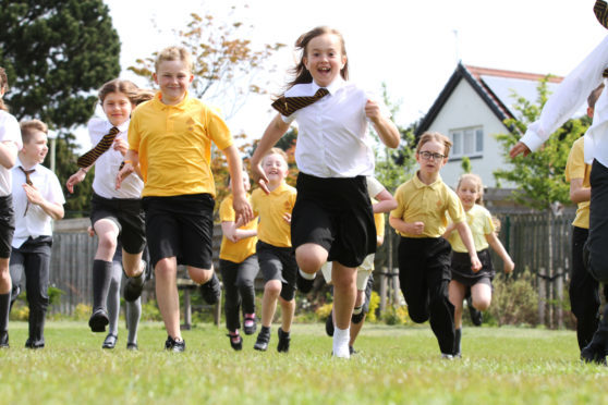
[[[194,79],[187,64],[180,59],[161,61],[153,77],[160,87],[161,101],[168,106],[180,103]]]

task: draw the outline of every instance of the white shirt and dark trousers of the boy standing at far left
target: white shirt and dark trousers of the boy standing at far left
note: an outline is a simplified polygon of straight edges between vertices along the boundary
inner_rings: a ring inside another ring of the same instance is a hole
[[[12,241],[10,272],[12,279],[11,304],[21,292],[25,275],[25,291],[29,305],[28,347],[44,347],[45,316],[49,305],[49,270],[52,246],[52,219],[41,207],[27,200],[23,184],[26,182],[23,164],[17,159],[12,169],[12,195],[15,211],[15,233]],[[59,180],[41,164],[27,170],[29,180],[40,195],[51,204],[65,204]]]

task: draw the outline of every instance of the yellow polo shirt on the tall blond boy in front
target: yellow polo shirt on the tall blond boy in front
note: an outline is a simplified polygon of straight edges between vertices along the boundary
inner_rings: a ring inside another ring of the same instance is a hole
[[[187,93],[177,106],[155,98],[139,105],[129,125],[129,148],[139,155],[142,196],[216,195],[211,142],[223,150],[232,145],[218,113]]]

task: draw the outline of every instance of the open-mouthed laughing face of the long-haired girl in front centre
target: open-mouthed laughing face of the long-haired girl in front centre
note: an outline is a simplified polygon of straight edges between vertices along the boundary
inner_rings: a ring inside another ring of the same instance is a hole
[[[311,39],[303,62],[317,85],[329,86],[346,63],[340,37],[336,34],[323,34]]]

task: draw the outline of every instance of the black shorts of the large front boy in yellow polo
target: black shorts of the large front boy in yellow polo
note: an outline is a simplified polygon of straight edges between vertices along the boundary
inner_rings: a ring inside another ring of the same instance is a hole
[[[153,267],[175,257],[179,265],[212,268],[214,207],[210,194],[144,197]]]

